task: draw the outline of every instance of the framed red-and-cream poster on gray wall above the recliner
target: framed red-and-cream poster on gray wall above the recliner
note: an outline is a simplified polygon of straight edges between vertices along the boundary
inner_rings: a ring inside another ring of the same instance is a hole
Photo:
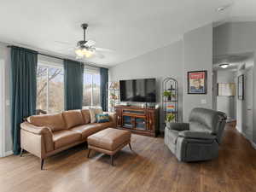
[[[188,94],[207,94],[207,71],[188,72]]]

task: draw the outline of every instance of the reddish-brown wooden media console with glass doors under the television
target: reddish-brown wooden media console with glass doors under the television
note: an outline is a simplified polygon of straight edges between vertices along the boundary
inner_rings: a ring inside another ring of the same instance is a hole
[[[136,106],[115,106],[118,129],[156,137],[159,133],[159,108],[140,108]]]

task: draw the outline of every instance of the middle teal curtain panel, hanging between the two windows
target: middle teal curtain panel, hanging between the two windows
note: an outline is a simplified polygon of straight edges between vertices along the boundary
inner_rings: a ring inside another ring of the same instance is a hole
[[[83,80],[84,64],[64,60],[65,110],[82,108]]]

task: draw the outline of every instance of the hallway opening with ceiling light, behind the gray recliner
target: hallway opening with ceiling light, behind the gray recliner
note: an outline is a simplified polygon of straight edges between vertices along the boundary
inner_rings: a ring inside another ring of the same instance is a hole
[[[253,66],[253,53],[213,58],[213,108],[226,113],[228,121],[235,122],[237,131],[250,141],[253,141]],[[238,96],[239,77],[243,78],[242,97]]]

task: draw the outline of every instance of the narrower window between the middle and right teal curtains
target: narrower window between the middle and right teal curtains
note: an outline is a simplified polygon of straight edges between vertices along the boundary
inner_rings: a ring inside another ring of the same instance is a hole
[[[100,85],[101,77],[99,73],[84,73],[83,107],[101,105]]]

